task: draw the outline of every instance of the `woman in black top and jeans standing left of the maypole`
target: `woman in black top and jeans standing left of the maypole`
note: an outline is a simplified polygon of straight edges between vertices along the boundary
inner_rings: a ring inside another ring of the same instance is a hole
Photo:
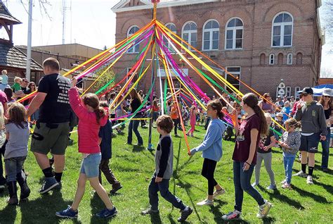
[[[132,89],[129,95],[131,97],[130,101],[131,113],[134,113],[142,104],[141,97],[138,95],[138,92],[136,92],[136,89]],[[136,116],[134,116],[133,118],[142,118],[141,113],[136,113]],[[140,132],[138,132],[139,123],[140,120],[131,120],[129,122],[129,135],[127,137],[127,144],[132,144],[132,130],[133,130],[134,134],[136,134],[136,137],[138,138],[138,146],[143,145],[143,139],[140,135]]]

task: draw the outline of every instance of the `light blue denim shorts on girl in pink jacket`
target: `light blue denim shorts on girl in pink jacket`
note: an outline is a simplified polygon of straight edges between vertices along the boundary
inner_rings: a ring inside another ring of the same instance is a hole
[[[98,177],[101,157],[100,153],[86,156],[82,161],[80,173],[84,173],[86,178]]]

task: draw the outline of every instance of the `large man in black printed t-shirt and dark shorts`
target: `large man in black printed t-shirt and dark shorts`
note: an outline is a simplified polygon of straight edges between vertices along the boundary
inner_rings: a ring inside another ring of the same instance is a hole
[[[27,109],[27,116],[31,116],[39,108],[31,151],[45,176],[39,190],[41,194],[54,187],[61,187],[70,132],[70,103],[67,94],[70,80],[59,74],[59,62],[55,58],[47,58],[43,69],[45,76],[39,81],[37,95]],[[54,157],[54,175],[47,156],[50,151]]]

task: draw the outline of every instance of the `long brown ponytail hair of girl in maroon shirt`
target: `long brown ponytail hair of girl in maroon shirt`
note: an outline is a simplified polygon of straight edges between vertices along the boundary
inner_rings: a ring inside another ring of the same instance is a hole
[[[254,110],[254,113],[256,113],[259,116],[260,119],[260,134],[261,135],[267,135],[268,133],[268,125],[266,122],[265,113],[263,113],[263,110],[261,110],[260,106],[258,105],[258,98],[253,93],[245,94],[242,98],[243,103],[247,104],[250,108]]]

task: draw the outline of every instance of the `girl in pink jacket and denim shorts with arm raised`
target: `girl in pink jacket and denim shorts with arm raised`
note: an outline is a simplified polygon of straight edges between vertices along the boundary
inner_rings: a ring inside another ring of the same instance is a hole
[[[113,206],[107,192],[98,181],[100,165],[100,146],[98,132],[100,126],[107,122],[107,116],[104,108],[99,107],[99,101],[96,94],[85,94],[82,99],[75,88],[77,80],[73,79],[71,88],[68,91],[70,106],[79,118],[78,135],[79,135],[79,152],[82,154],[83,161],[79,180],[77,180],[77,192],[75,193],[72,206],[68,206],[63,211],[58,211],[55,216],[61,218],[77,218],[77,209],[84,196],[86,181],[89,180],[91,187],[96,190],[100,199],[102,199],[106,208],[96,214],[100,218],[109,218],[117,214],[117,209]]]

